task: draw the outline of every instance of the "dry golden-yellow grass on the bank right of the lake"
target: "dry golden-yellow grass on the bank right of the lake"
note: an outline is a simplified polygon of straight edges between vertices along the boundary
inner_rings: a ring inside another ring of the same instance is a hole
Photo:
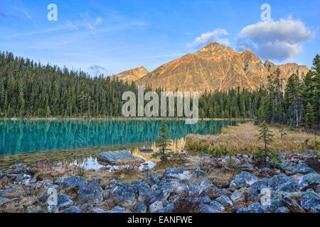
[[[257,129],[258,126],[253,123],[243,123],[240,126],[224,128],[219,135],[187,135],[186,148],[198,152],[206,151],[215,156],[234,155],[240,151],[252,154],[262,147],[262,142],[257,141]],[[304,152],[313,149],[311,142],[314,140],[314,133],[301,129],[292,131],[287,126],[269,126],[269,129],[274,134],[274,143],[269,146],[270,150]],[[309,143],[304,143],[306,140]]]

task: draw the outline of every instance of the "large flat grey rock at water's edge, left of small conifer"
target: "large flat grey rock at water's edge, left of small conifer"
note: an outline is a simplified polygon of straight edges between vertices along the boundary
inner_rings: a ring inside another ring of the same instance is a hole
[[[132,155],[132,153],[129,153],[127,150],[114,150],[107,151],[104,153],[98,153],[97,158],[103,162],[108,162],[112,165],[126,160],[137,160],[137,162],[139,163],[145,162],[145,160],[143,160],[140,157],[135,157],[134,155]]]

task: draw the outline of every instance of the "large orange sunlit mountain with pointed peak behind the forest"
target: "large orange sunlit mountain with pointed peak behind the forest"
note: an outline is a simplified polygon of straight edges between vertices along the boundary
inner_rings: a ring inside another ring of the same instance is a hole
[[[284,64],[279,66],[282,77],[292,72],[307,72],[306,66]],[[161,65],[153,72],[137,79],[136,84],[162,87],[166,91],[203,92],[226,91],[245,88],[255,90],[267,84],[267,76],[277,69],[277,65],[267,61],[265,64],[250,50],[236,52],[218,43],[210,43],[196,53],[187,54]]]

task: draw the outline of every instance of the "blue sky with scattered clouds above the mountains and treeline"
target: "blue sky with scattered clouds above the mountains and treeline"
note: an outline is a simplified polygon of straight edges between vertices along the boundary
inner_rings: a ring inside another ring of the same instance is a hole
[[[311,67],[319,9],[320,0],[0,0],[0,51],[110,75],[218,42]]]

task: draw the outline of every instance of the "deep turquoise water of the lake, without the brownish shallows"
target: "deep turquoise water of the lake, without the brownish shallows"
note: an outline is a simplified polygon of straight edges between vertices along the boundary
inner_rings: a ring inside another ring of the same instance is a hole
[[[188,134],[218,134],[239,121],[166,121],[171,139]],[[0,121],[0,155],[46,150],[90,148],[156,140],[157,120],[55,120]]]

